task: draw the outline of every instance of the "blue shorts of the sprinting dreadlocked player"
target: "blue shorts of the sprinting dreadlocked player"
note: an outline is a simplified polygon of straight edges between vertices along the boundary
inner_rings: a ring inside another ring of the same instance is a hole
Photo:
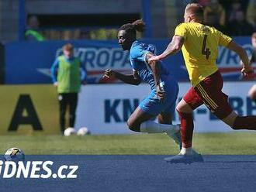
[[[166,83],[167,82],[167,83]],[[140,109],[150,115],[159,115],[161,112],[174,113],[175,104],[178,97],[178,83],[175,79],[164,81],[164,91],[166,92],[164,101],[157,97],[157,91],[152,90],[147,98],[140,102]]]

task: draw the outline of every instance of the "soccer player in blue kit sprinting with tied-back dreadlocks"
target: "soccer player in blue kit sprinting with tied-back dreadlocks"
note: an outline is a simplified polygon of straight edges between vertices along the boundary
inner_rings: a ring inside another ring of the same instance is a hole
[[[145,24],[142,19],[120,27],[118,43],[123,50],[130,50],[130,63],[133,74],[120,74],[111,69],[105,70],[104,77],[116,77],[126,84],[140,84],[146,81],[151,92],[133,111],[127,121],[130,130],[135,132],[167,133],[178,146],[182,147],[180,126],[171,125],[178,96],[178,83],[175,77],[161,67],[160,62],[148,62],[156,49],[153,45],[137,40],[137,31],[143,32]],[[159,123],[151,119],[157,116]]]

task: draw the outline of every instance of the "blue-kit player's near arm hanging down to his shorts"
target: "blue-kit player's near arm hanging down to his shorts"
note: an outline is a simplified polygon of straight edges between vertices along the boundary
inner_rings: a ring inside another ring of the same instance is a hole
[[[157,97],[161,100],[164,99],[164,95],[165,95],[165,91],[163,90],[163,88],[160,86],[160,71],[161,71],[161,63],[157,62],[157,61],[151,61],[149,62],[148,60],[154,57],[153,53],[147,53],[146,55],[146,62],[147,64],[150,66],[152,73],[154,75],[154,84],[155,84],[155,88],[157,91]]]

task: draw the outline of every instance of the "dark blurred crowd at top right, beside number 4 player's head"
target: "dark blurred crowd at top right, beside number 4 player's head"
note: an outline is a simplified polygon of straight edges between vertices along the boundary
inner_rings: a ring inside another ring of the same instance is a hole
[[[251,36],[256,31],[256,0],[194,0],[205,8],[207,25],[230,36]]]

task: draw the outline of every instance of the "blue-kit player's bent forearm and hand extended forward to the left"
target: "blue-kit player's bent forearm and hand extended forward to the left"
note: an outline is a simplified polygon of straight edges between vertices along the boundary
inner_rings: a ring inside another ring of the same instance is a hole
[[[133,70],[133,74],[121,74],[116,70],[106,69],[103,77],[116,77],[120,81],[123,81],[126,84],[140,84],[140,76],[137,74],[136,70]]]

